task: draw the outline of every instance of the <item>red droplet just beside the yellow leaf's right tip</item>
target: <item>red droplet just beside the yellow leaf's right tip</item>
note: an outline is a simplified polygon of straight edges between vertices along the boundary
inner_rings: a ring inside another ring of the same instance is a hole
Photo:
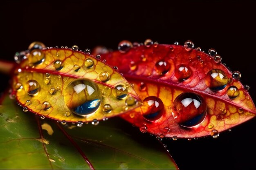
[[[160,119],[164,113],[164,104],[155,96],[146,97],[140,107],[140,113],[148,121]]]

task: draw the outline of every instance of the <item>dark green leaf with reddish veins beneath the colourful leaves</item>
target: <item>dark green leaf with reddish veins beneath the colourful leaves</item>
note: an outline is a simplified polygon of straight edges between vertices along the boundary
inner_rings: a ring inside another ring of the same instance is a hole
[[[0,168],[90,168],[92,164],[95,169],[178,169],[157,140],[118,118],[98,126],[64,126],[24,113],[5,97],[0,134]]]

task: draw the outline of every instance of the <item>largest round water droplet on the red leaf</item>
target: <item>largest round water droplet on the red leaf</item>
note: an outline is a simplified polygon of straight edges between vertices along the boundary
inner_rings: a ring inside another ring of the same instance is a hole
[[[193,92],[178,95],[172,105],[174,120],[184,127],[194,127],[202,123],[207,115],[207,106],[204,99]]]

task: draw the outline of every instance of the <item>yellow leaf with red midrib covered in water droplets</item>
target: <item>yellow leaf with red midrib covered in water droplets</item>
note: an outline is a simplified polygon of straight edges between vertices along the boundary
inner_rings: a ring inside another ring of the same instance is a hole
[[[30,49],[13,76],[13,93],[27,110],[58,121],[93,121],[139,106],[137,95],[108,64],[72,49]],[[99,56],[98,56],[99,59]],[[27,111],[26,110],[26,111]]]

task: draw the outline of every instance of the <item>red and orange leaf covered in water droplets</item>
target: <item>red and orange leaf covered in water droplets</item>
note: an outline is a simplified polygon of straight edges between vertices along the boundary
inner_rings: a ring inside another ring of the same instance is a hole
[[[165,137],[215,136],[254,117],[256,109],[247,87],[238,81],[240,73],[232,77],[216,51],[210,57],[187,43],[186,48],[154,44],[102,55],[118,66],[144,101],[121,117]]]

